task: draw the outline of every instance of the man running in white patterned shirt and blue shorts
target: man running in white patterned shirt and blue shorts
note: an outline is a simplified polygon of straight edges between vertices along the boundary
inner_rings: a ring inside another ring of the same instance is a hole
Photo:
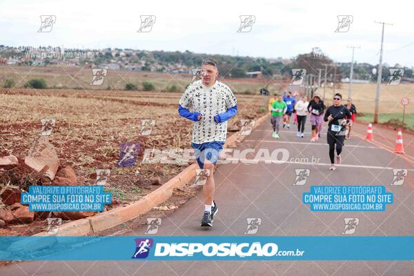
[[[201,226],[213,226],[217,213],[215,204],[214,166],[219,159],[227,134],[227,120],[237,113],[237,100],[233,92],[220,81],[217,62],[206,59],[201,64],[199,81],[191,83],[179,100],[179,115],[194,121],[191,146],[201,169],[209,170],[203,186],[204,216]],[[189,108],[193,108],[193,112]]]

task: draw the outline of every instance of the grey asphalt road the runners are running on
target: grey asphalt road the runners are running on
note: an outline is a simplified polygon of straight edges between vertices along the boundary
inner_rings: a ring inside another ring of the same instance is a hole
[[[246,235],[246,219],[260,218],[262,224],[255,235],[343,236],[344,218],[350,217],[359,219],[353,235],[414,235],[414,173],[410,157],[403,158],[364,141],[364,128],[359,126],[359,135],[346,141],[342,166],[331,171],[326,133],[311,143],[310,126],[306,128],[305,138],[296,137],[292,126],[291,130],[281,130],[281,139],[276,140],[266,121],[246,137],[239,149],[253,148],[257,152],[264,148],[271,152],[284,148],[288,162],[265,164],[262,160],[257,164],[219,166],[215,172],[219,213],[213,228],[199,227],[204,211],[199,194],[164,217],[156,235]],[[404,137],[407,148],[412,148],[412,140],[412,136]],[[254,156],[247,155],[249,159]],[[409,169],[401,186],[391,185],[393,168]],[[296,169],[310,170],[306,184],[293,185]],[[383,212],[313,212],[302,204],[302,193],[309,191],[311,185],[384,185],[387,192],[394,194],[394,203]],[[137,228],[122,235],[142,236],[145,231],[146,228]],[[0,275],[414,275],[414,262],[23,262],[0,268]]]

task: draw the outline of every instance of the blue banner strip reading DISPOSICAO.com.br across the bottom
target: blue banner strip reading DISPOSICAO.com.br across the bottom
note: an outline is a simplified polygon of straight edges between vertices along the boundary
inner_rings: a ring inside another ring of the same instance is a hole
[[[414,237],[0,237],[0,260],[414,260]]]

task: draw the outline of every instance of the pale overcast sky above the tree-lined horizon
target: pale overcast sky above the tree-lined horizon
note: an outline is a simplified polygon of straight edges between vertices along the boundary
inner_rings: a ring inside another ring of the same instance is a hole
[[[414,66],[413,1],[48,1],[0,0],[0,44],[66,48],[133,48],[252,57],[295,57],[322,48],[335,61],[375,64],[382,25],[384,62]],[[137,32],[139,15],[155,15],[151,32]],[[37,32],[40,15],[55,15],[52,32]],[[236,32],[240,15],[254,15],[250,32]],[[337,15],[352,15],[348,32],[334,32]]]

